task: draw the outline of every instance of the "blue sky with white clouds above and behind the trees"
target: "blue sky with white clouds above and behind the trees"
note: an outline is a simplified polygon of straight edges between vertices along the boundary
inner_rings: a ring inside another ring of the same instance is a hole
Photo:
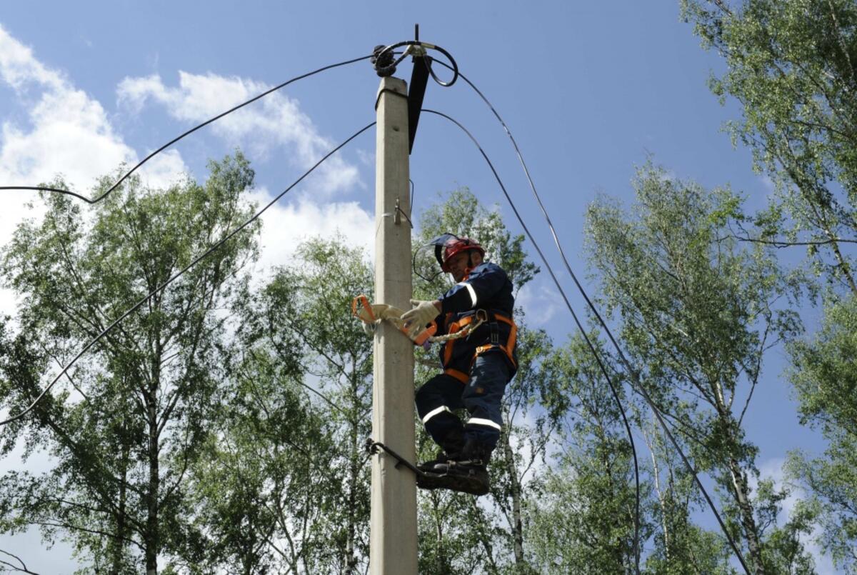
[[[449,51],[491,100],[518,141],[566,255],[587,276],[583,214],[597,195],[632,201],[635,167],[651,158],[679,178],[728,185],[762,207],[770,180],[752,171],[722,125],[740,117],[707,81],[722,71],[680,21],[677,0],[641,3],[474,0],[435,2],[4,3],[0,12],[0,185],[35,185],[62,175],[87,194],[97,177],[133,164],[196,123],[293,76],[368,55],[375,45],[420,39]],[[446,70],[439,75],[444,77]],[[399,77],[410,78],[411,64]],[[202,179],[209,159],[237,147],[256,171],[255,201],[285,189],[321,155],[375,119],[379,79],[368,62],[299,81],[201,129],[141,171],[163,186],[189,173]],[[529,191],[511,143],[464,82],[429,81],[426,108],[455,117],[480,141],[524,221],[576,295]],[[288,261],[305,237],[339,232],[369,251],[374,237],[375,136],[369,130],[286,195],[264,218],[261,265]],[[411,155],[415,213],[441,194],[468,186],[498,205],[521,232],[472,143],[440,117],[423,115]],[[16,222],[38,214],[29,192],[0,192],[0,243]],[[530,255],[535,249],[526,244]],[[585,282],[594,291],[594,280]],[[542,273],[521,295],[530,325],[557,340],[570,314]],[[15,299],[0,290],[0,311]],[[805,310],[812,320],[816,310]],[[763,475],[782,479],[789,449],[820,454],[824,443],[798,423],[785,356],[772,350],[747,416]],[[638,441],[642,443],[642,441]],[[38,466],[0,461],[0,470]],[[788,510],[787,510],[788,511]],[[0,549],[37,572],[72,572],[62,542],[43,550],[39,535],[0,536]],[[818,559],[820,572],[835,572]]]

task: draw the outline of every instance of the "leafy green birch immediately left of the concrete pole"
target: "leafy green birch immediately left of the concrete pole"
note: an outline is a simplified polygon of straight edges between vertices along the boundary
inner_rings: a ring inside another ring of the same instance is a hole
[[[221,559],[246,557],[250,571],[364,571],[372,338],[349,311],[371,287],[363,250],[313,238],[243,294],[224,427],[197,484],[216,510],[201,525],[235,543]]]

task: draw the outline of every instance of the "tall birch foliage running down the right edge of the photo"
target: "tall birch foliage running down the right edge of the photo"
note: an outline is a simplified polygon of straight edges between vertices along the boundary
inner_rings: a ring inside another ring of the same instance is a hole
[[[830,441],[823,458],[794,453],[789,470],[821,507],[822,545],[837,565],[854,569],[854,418],[849,389],[857,283],[857,4],[852,0],[684,0],[704,45],[725,59],[712,81],[721,99],[743,107],[730,124],[752,149],[759,170],[777,184],[757,217],[753,241],[806,245],[813,271],[826,280],[824,327],[791,349],[791,380],[801,421]]]

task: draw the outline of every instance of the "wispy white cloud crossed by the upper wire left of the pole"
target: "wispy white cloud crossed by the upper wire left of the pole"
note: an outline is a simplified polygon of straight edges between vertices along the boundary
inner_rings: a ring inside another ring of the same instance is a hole
[[[159,75],[129,77],[120,82],[117,94],[119,105],[126,109],[140,111],[151,101],[164,106],[177,120],[201,123],[268,88],[237,76],[180,71],[177,87],[166,86]],[[211,129],[231,146],[240,145],[258,158],[266,158],[275,148],[285,148],[291,162],[301,168],[309,168],[336,146],[319,134],[297,100],[279,92],[219,119]],[[311,185],[316,194],[330,198],[359,184],[357,167],[333,156],[315,171]]]

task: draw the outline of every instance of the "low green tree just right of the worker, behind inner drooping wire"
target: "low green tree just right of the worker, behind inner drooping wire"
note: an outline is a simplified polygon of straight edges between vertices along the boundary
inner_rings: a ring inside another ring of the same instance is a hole
[[[596,333],[588,335],[597,342]],[[597,351],[615,373],[604,350]],[[554,440],[557,462],[545,470],[541,493],[530,504],[537,572],[633,573],[636,493],[619,405],[582,336],[570,338],[545,364],[555,386],[542,401],[561,414],[562,425]],[[614,381],[625,404],[620,384]],[[647,483],[641,487],[642,542],[650,523]]]

